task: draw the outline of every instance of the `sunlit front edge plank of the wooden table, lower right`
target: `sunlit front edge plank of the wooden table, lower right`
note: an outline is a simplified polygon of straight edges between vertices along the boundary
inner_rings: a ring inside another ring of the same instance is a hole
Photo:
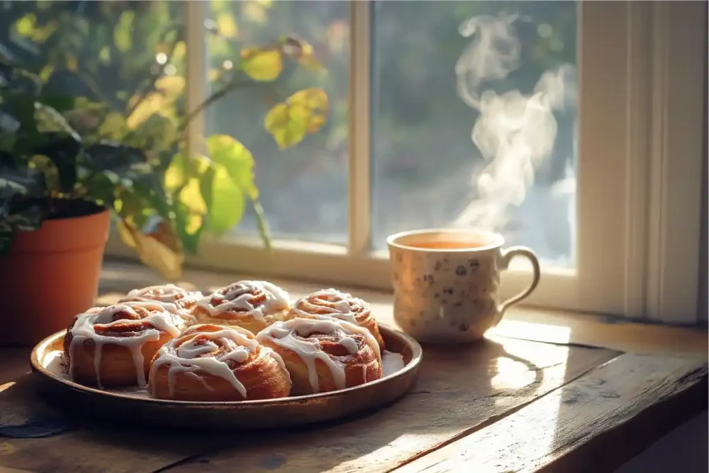
[[[396,473],[613,472],[705,410],[707,365],[622,355]]]

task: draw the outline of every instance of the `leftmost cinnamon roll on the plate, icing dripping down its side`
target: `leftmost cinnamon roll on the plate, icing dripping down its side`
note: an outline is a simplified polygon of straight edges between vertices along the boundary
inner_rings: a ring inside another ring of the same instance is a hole
[[[150,360],[183,328],[182,318],[156,302],[90,308],[67,329],[65,370],[89,386],[145,386]]]

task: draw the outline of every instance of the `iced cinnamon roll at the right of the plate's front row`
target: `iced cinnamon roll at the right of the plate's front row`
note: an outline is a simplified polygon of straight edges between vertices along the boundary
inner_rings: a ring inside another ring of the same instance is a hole
[[[336,318],[293,318],[256,335],[283,358],[294,395],[315,394],[381,378],[381,353],[366,328]]]

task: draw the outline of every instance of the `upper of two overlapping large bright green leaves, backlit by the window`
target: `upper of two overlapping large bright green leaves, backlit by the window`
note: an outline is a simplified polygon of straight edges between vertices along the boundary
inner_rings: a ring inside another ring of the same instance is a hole
[[[254,157],[238,140],[229,135],[211,135],[207,150],[213,162],[222,165],[231,179],[249,199],[257,199],[259,191],[254,182]]]

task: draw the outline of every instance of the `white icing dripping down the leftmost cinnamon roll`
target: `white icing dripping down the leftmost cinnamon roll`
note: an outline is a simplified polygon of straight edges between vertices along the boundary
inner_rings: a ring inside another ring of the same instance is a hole
[[[113,320],[113,316],[115,316],[116,313],[135,313],[135,307],[147,309],[147,311],[149,311],[148,316],[138,319]],[[96,325],[110,329],[113,325],[127,323],[131,320],[135,320],[135,322],[140,324],[148,323],[151,325],[151,328],[141,330],[137,336],[128,337],[111,337],[96,333]],[[74,325],[72,325],[72,328],[69,330],[72,334],[72,341],[69,344],[69,376],[72,377],[72,379],[74,378],[75,365],[72,360],[75,359],[74,355],[77,346],[82,345],[85,340],[92,340],[94,342],[96,384],[99,388],[103,387],[101,386],[101,357],[104,345],[120,345],[127,347],[128,350],[130,350],[130,355],[133,357],[133,363],[135,364],[135,379],[139,386],[145,386],[147,381],[143,367],[145,362],[143,359],[143,345],[149,341],[160,340],[161,332],[169,333],[173,337],[177,337],[177,335],[179,335],[179,328],[177,328],[178,324],[176,322],[174,316],[165,311],[162,304],[155,302],[121,302],[121,304],[108,307],[94,307],[89,309],[89,311],[79,314]]]

